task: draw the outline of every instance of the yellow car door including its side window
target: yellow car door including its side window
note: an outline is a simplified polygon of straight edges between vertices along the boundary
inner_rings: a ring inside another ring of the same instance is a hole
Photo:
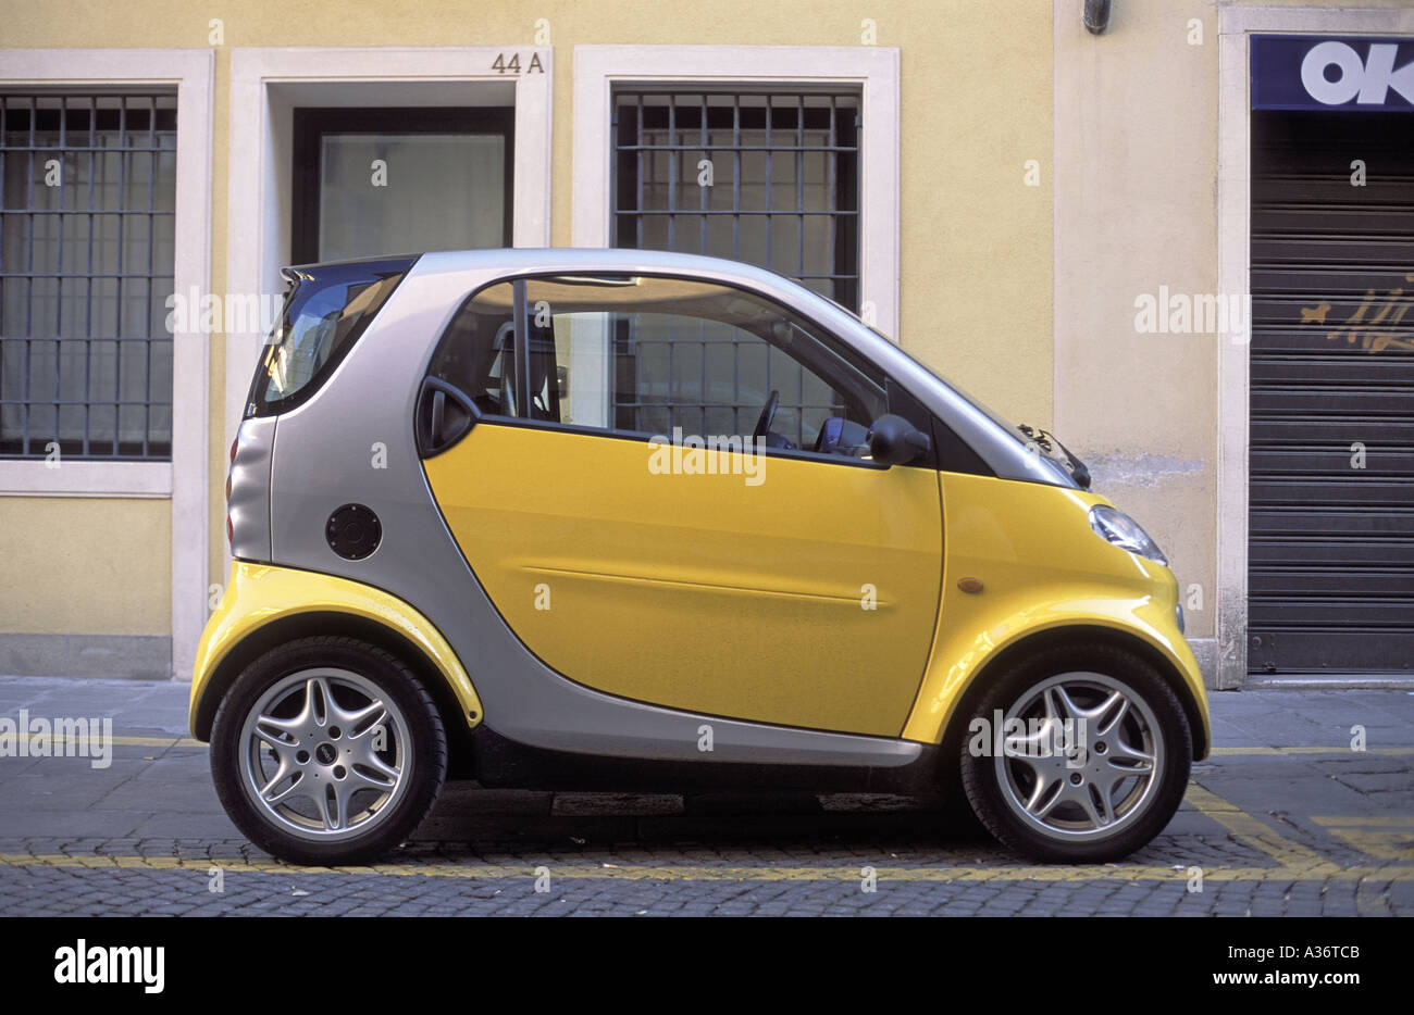
[[[706,715],[899,734],[942,509],[936,471],[861,447],[889,407],[877,368],[759,294],[554,276],[468,298],[428,376],[474,407],[448,427],[434,396],[457,440],[428,438],[433,495],[544,663]]]

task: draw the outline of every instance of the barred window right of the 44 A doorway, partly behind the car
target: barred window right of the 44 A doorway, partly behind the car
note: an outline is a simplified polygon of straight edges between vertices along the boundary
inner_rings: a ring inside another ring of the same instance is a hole
[[[858,311],[857,90],[621,88],[612,127],[615,246],[759,264]],[[673,365],[715,362],[721,346],[701,338],[694,348],[689,335],[655,336],[643,348],[628,342],[632,348],[621,356],[643,375],[632,390],[660,392],[665,418],[690,417],[703,389],[694,377],[679,379]],[[782,369],[754,352],[731,346],[731,362],[720,369],[730,370],[734,387],[779,390],[785,418],[820,410],[802,368]],[[666,382],[658,376],[663,372]],[[728,409],[732,417],[752,411],[747,404]]]

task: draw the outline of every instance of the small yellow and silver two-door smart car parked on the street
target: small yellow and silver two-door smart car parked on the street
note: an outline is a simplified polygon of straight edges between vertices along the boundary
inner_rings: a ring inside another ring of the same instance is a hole
[[[1124,857],[1209,749],[1164,554],[833,300],[648,250],[287,269],[191,731],[311,864],[482,786],[922,794]]]

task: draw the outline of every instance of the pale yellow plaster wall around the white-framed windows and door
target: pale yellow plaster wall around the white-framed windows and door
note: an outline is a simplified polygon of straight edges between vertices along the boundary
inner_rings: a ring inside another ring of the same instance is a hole
[[[575,44],[857,45],[861,20],[872,18],[878,45],[899,47],[902,54],[899,338],[998,410],[1051,421],[1052,20],[1039,0],[871,0],[863,7],[805,0],[547,0],[534,7],[510,1],[0,0],[0,48],[205,47],[208,21],[222,20],[211,281],[219,293],[226,288],[230,47],[525,45],[534,41],[534,21],[542,17],[550,21],[556,57],[551,236],[559,245],[570,242]],[[1022,184],[1029,158],[1041,164],[1041,187]],[[216,582],[225,580],[223,362],[225,342],[215,335],[208,485],[209,568]],[[0,499],[0,510],[25,533],[11,539],[28,547],[6,568],[18,568],[23,560],[25,597],[45,604],[27,612],[14,592],[0,591],[0,628],[165,629],[170,524],[165,516],[157,524],[165,502],[133,508],[148,523],[129,529],[122,548],[99,539],[75,544],[72,537],[69,548],[59,548],[65,533],[95,529],[110,503]],[[106,591],[81,580],[82,560],[90,554],[96,554],[90,565],[120,565],[141,587],[117,612]]]

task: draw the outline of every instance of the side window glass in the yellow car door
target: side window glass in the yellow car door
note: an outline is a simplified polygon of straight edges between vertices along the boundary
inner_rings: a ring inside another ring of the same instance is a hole
[[[775,401],[766,447],[855,458],[887,411],[872,365],[756,294],[648,276],[539,276],[523,287],[526,406],[515,401],[509,283],[469,300],[434,358],[433,373],[482,411],[669,438],[751,438]]]

